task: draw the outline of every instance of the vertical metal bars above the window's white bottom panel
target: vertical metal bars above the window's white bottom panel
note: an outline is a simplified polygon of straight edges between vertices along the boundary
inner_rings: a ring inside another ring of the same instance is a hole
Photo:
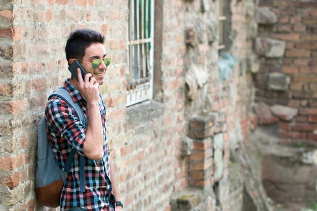
[[[149,52],[151,48],[151,0],[129,1],[129,63],[128,91],[149,85]],[[130,93],[130,92],[129,92]]]

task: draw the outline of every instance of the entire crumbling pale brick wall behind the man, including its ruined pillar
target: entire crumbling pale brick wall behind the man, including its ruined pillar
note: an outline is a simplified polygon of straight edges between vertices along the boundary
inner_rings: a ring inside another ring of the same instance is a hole
[[[230,3],[232,47],[220,57],[219,1],[155,1],[155,95],[127,108],[127,1],[2,1],[0,210],[48,209],[34,191],[36,128],[47,96],[69,77],[64,46],[77,28],[104,34],[112,58],[100,92],[125,209],[233,210],[242,203],[242,182],[230,185],[228,161],[230,147],[248,143],[254,122],[254,7]]]

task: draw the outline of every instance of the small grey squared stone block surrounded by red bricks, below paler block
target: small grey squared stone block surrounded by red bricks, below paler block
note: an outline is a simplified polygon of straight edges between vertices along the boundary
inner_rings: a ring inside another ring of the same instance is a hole
[[[267,81],[267,89],[270,91],[287,91],[290,78],[284,73],[269,73]]]

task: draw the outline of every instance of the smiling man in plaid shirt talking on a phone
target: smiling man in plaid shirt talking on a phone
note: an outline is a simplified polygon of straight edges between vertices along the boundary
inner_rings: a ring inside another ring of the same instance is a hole
[[[108,156],[105,106],[103,102],[99,104],[98,88],[104,83],[110,63],[103,43],[104,36],[100,33],[78,29],[69,35],[65,47],[68,64],[77,60],[88,73],[83,80],[78,68],[78,81],[72,75],[64,83],[72,100],[80,104],[86,115],[87,126],[59,97],[51,98],[45,111],[49,141],[60,168],[65,167],[72,148],[85,157],[85,181],[80,181],[80,156],[76,153],[74,157],[61,193],[61,210],[122,211],[123,208]],[[85,183],[85,192],[80,191],[82,182]]]

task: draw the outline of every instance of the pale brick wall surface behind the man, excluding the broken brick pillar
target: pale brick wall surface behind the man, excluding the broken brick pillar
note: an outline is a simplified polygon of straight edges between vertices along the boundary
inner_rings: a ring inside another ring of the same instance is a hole
[[[47,96],[69,77],[64,47],[68,34],[77,28],[104,34],[107,53],[112,57],[100,92],[107,105],[114,178],[125,209],[169,210],[171,194],[188,187],[189,158],[181,156],[180,148],[187,136],[188,119],[200,111],[192,109],[193,104],[186,100],[185,75],[188,59],[193,57],[188,56],[185,29],[197,16],[218,20],[218,1],[209,1],[207,12],[202,12],[198,0],[162,4],[162,85],[156,87],[159,91],[155,96],[159,102],[129,108],[128,4],[126,0],[110,2],[18,0],[0,4],[0,20],[5,23],[0,29],[0,53],[4,55],[0,57],[0,209],[47,210],[37,202],[34,191],[37,124],[43,117]],[[251,54],[252,40],[245,31],[250,19],[244,2],[232,3],[234,29],[238,33],[231,54],[239,60],[228,80],[220,80],[217,41],[208,43],[205,33],[204,43],[192,52],[196,58],[193,61],[210,73],[206,86],[211,111],[226,116],[221,128],[222,202],[228,200],[229,146],[231,141],[246,141],[250,127],[252,87],[246,59]],[[227,206],[223,205],[229,210]]]

